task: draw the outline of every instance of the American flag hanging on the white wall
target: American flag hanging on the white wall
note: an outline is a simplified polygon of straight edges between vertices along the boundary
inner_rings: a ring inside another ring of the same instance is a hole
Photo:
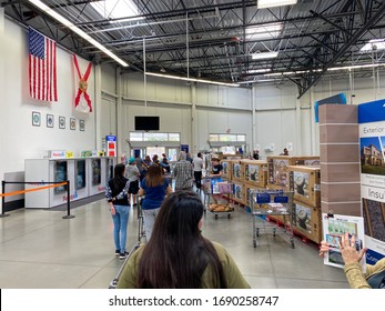
[[[57,43],[32,28],[29,28],[28,37],[30,96],[58,101]]]

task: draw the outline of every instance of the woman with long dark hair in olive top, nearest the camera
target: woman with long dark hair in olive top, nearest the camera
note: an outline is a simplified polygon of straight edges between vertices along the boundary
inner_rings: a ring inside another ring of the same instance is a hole
[[[226,250],[202,235],[203,210],[191,191],[170,194],[151,240],[129,259],[118,288],[249,289]]]

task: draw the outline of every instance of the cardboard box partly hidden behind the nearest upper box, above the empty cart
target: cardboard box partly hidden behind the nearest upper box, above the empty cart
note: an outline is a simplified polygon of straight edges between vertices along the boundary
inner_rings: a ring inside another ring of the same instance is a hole
[[[267,157],[267,188],[288,191],[288,165],[320,167],[320,157]]]

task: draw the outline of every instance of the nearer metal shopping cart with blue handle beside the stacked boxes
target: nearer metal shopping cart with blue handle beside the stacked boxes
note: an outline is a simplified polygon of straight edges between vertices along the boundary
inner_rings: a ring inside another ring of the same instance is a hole
[[[250,207],[253,215],[253,245],[260,234],[272,232],[275,237],[283,233],[294,249],[293,232],[293,192],[283,190],[253,190],[250,195]],[[269,224],[266,217],[282,217],[283,228]]]

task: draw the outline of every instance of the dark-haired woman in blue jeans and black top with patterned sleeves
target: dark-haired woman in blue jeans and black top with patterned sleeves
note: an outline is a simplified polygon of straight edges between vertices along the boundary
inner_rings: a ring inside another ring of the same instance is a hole
[[[113,240],[115,243],[115,255],[124,259],[129,253],[125,251],[126,225],[129,222],[130,202],[128,192],[130,181],[125,177],[125,165],[119,163],[114,168],[113,178],[105,187],[105,198],[110,205],[113,221]]]

